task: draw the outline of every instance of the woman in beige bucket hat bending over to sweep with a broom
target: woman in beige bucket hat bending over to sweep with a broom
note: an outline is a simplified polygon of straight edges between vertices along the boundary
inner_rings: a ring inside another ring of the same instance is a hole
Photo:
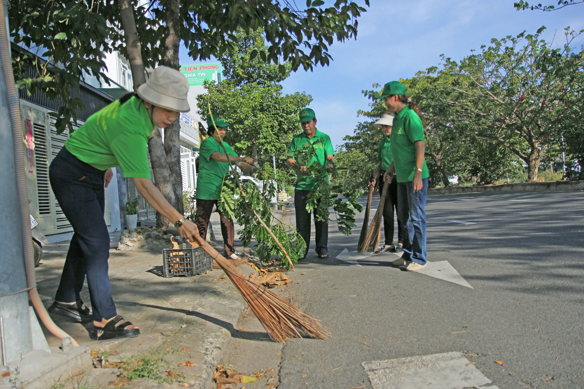
[[[175,69],[160,66],[152,71],[137,93],[128,93],[73,132],[49,169],[51,188],[74,234],[67,260],[49,312],[93,321],[89,337],[130,338],[140,335],[138,327],[117,315],[107,275],[110,236],[103,219],[104,187],[119,166],[131,177],[142,197],[171,220],[180,235],[204,244],[194,223],[183,219],[150,181],[148,136],[175,121],[179,112],[189,111],[189,83]],[[79,292],[87,276],[92,313]]]

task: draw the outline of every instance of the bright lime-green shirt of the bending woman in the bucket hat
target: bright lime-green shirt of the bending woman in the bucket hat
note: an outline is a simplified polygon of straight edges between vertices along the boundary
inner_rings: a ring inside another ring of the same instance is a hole
[[[150,178],[148,136],[153,129],[144,101],[134,96],[91,115],[69,136],[65,148],[95,169],[119,166],[124,177]]]

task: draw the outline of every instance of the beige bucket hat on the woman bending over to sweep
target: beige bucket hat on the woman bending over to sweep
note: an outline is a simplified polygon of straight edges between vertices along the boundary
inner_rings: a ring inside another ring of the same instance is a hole
[[[144,101],[167,110],[189,112],[189,82],[178,70],[158,66],[136,91]]]

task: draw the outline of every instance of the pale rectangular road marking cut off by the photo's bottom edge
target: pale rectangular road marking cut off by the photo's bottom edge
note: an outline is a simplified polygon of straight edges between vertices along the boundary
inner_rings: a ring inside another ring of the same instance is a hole
[[[463,353],[412,356],[361,363],[373,389],[498,389]]]

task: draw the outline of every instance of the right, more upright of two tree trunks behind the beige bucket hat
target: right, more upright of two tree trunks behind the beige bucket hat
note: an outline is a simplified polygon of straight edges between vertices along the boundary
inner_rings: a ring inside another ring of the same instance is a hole
[[[179,70],[179,42],[180,19],[179,0],[167,1],[164,4],[164,16],[166,24],[166,37],[164,39],[164,54],[161,65]],[[175,202],[171,203],[176,211],[184,213],[182,202],[182,174],[180,172],[180,121],[171,123],[164,129],[164,151],[168,163],[172,187],[175,194]]]

